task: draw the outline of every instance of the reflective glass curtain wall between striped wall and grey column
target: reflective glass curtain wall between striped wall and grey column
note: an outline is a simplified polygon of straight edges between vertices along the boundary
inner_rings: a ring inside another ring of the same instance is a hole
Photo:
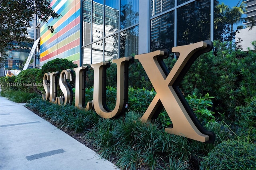
[[[138,54],[138,0],[83,0],[83,65]]]

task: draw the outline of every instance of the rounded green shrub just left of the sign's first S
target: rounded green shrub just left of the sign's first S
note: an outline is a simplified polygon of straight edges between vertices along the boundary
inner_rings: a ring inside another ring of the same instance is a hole
[[[18,84],[18,90],[25,91],[29,93],[38,93],[40,92],[37,87],[42,86],[42,82],[37,84],[36,77],[40,72],[39,69],[26,69],[21,71],[15,80],[15,83]]]

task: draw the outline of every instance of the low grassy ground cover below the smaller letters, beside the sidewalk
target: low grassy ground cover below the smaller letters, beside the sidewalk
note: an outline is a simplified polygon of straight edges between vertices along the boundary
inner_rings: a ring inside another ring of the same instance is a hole
[[[92,128],[98,122],[99,116],[94,111],[85,111],[73,105],[56,105],[35,98],[28,101],[26,107],[39,113],[41,117],[63,129],[82,132],[85,128]]]

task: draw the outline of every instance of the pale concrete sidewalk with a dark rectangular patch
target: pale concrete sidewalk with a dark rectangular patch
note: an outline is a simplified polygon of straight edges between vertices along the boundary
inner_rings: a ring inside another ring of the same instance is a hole
[[[116,170],[62,130],[0,97],[1,170]]]

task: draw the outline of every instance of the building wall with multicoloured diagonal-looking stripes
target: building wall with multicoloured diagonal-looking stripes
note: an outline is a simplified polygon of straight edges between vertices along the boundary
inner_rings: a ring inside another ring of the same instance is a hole
[[[80,0],[52,0],[59,19],[41,24],[40,65],[55,58],[66,58],[79,65],[80,61]],[[54,33],[48,30],[54,27]]]

